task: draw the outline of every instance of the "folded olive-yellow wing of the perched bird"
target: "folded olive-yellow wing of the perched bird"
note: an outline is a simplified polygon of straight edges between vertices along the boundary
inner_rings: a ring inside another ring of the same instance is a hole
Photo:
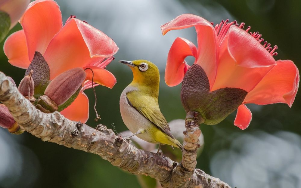
[[[158,99],[151,96],[140,95],[137,91],[128,92],[126,97],[130,106],[140,112],[161,131],[174,138],[170,133],[166,119],[160,111]]]

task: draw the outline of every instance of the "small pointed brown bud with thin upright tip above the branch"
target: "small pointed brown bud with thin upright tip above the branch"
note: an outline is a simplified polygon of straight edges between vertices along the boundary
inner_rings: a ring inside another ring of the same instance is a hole
[[[26,98],[28,99],[30,102],[35,101],[36,99],[33,97],[33,93],[34,93],[34,88],[35,88],[35,84],[32,78],[33,75],[33,70],[31,70],[29,72],[29,74],[27,76],[25,76],[18,87],[18,90],[20,91],[20,93]]]

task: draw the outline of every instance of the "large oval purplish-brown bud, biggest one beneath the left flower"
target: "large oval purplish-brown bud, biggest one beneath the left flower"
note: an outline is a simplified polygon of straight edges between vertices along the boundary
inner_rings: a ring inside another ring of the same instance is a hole
[[[46,109],[46,112],[57,111],[57,106],[65,103],[73,94],[75,94],[81,87],[85,78],[86,73],[82,68],[74,68],[61,73],[47,86],[44,95],[39,97],[38,105],[36,107],[41,110],[44,108]]]

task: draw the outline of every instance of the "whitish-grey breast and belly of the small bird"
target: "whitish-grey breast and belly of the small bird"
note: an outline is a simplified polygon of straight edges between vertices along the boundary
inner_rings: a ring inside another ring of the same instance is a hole
[[[153,139],[151,139],[151,137],[148,134],[150,127],[153,126],[152,123],[147,118],[145,118],[140,112],[138,112],[134,107],[130,106],[126,99],[126,93],[135,90],[137,90],[136,87],[127,86],[120,96],[119,106],[122,120],[126,127],[133,134],[138,132],[139,129],[143,129],[146,131],[145,133],[137,134],[137,137],[147,142],[156,143]]]

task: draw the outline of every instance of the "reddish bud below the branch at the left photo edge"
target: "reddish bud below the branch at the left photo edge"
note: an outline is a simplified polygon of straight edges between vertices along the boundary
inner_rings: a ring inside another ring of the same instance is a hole
[[[8,129],[8,131],[13,134],[21,134],[24,132],[4,104],[0,104],[0,126]]]

